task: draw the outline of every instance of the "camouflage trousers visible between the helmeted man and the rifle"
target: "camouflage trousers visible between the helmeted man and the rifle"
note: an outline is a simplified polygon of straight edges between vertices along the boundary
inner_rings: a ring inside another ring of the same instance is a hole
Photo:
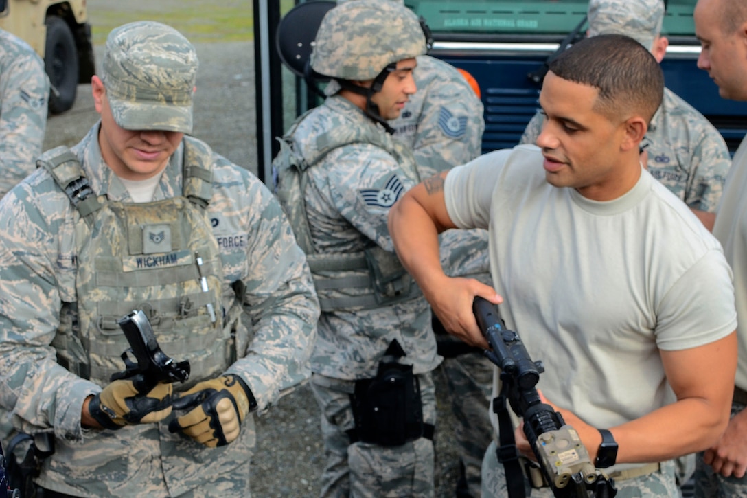
[[[439,343],[449,340],[441,335],[437,337]],[[452,340],[459,341],[455,338]],[[480,467],[493,434],[489,417],[493,368],[493,363],[482,353],[460,354],[444,358],[441,363],[451,411],[456,418],[454,432],[459,459],[464,465],[469,496],[473,498],[480,498]]]

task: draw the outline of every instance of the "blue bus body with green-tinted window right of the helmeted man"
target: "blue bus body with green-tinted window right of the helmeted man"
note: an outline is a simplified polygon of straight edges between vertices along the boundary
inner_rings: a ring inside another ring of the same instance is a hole
[[[719,129],[734,153],[747,134],[747,102],[722,99],[696,61],[692,10],[696,0],[669,0],[662,35],[666,86]],[[430,55],[477,80],[485,105],[483,151],[513,147],[538,108],[539,82],[532,78],[561,43],[586,32],[588,1],[406,0],[427,20],[435,40]]]

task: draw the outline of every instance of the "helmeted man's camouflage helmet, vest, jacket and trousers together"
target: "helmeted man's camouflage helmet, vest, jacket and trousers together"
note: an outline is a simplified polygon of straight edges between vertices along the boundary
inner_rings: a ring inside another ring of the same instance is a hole
[[[408,434],[401,444],[376,438],[364,442],[366,431],[356,424],[353,412],[353,402],[368,396],[355,393],[356,387],[376,377],[383,362],[392,361],[412,366],[420,388],[422,422],[433,428],[436,397],[430,372],[441,358],[436,354],[427,301],[412,284],[410,292],[404,291],[405,298],[394,298],[389,304],[354,306],[350,302],[359,297],[356,292],[368,291],[335,290],[340,304],[328,306],[334,299],[328,299],[329,289],[322,292],[320,287],[326,274],[339,278],[354,274],[366,281],[370,274],[373,282],[379,264],[373,262],[371,270],[362,271],[323,271],[315,265],[317,257],[342,259],[371,251],[394,259],[394,266],[409,280],[394,256],[387,218],[400,195],[419,181],[415,159],[392,140],[378,108],[371,105],[378,90],[355,87],[350,80],[380,80],[383,85],[388,75],[385,67],[424,52],[418,19],[401,5],[353,0],[332,8],[317,31],[311,54],[314,71],[333,79],[325,90],[328,98],[286,134],[295,153],[311,165],[305,173],[303,203],[310,233],[307,253],[322,306],[311,355],[311,387],[322,412],[327,457],[321,477],[323,497],[434,494],[432,437],[421,432]],[[341,87],[365,95],[365,108],[338,94]],[[329,144],[335,147],[327,150]],[[396,349],[393,344],[401,351],[390,355]]]

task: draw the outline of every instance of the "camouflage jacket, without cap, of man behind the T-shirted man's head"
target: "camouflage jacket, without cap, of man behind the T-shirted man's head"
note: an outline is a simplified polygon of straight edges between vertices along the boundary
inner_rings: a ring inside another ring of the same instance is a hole
[[[535,143],[542,120],[538,111],[524,130],[521,144]],[[641,146],[648,152],[651,176],[691,209],[716,212],[731,156],[724,138],[703,114],[664,88],[662,104]]]

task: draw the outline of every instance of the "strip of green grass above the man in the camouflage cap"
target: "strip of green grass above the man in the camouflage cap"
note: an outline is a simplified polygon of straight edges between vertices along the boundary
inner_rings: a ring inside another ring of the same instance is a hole
[[[294,0],[279,1],[283,13],[294,5]],[[254,40],[254,16],[252,2],[249,0],[215,3],[204,0],[150,2],[158,3],[158,7],[150,9],[148,0],[123,2],[128,8],[110,7],[111,4],[90,1],[88,19],[93,33],[93,43],[103,44],[112,29],[127,22],[143,19],[173,26],[192,42]]]

